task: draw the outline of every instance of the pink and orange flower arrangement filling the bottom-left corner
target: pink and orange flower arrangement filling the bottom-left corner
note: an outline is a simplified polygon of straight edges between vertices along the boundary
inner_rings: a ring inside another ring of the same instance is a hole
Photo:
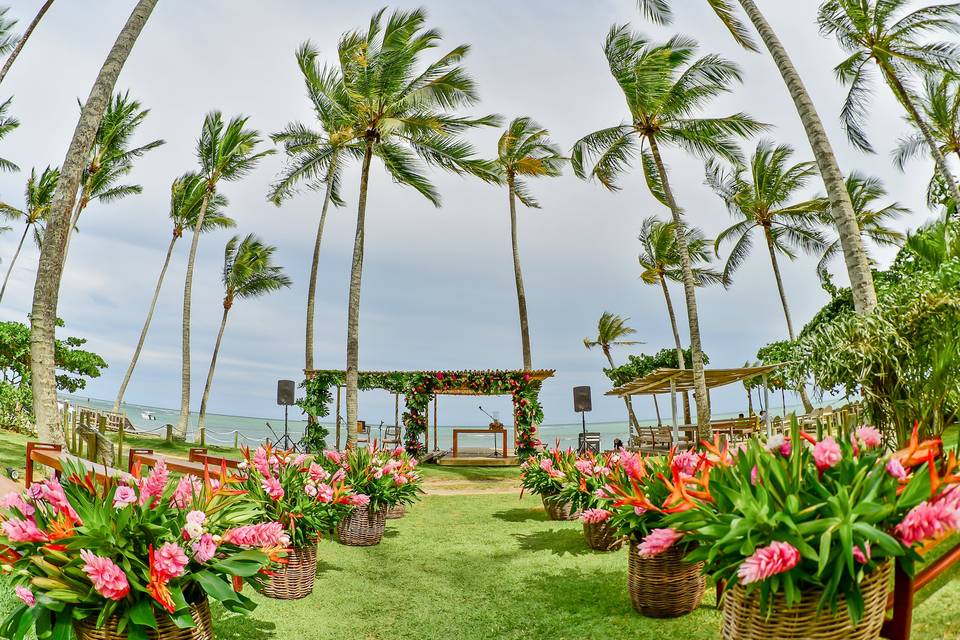
[[[262,580],[289,543],[279,523],[248,524],[256,511],[224,471],[173,482],[161,460],[146,478],[98,484],[67,462],[63,478],[0,505],[0,561],[21,601],[4,637],[69,638],[75,621],[113,619],[145,639],[163,617],[192,628],[206,596],[249,611],[242,581]]]

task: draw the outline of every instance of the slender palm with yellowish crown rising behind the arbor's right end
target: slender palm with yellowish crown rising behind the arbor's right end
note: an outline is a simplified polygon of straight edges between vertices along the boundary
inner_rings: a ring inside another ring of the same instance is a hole
[[[560,147],[550,141],[550,132],[530,118],[515,118],[507,125],[497,144],[494,163],[507,185],[510,199],[510,239],[513,245],[513,275],[517,285],[517,306],[520,309],[520,341],[523,347],[523,368],[533,368],[530,355],[530,328],[527,323],[527,297],[520,271],[520,243],[517,237],[517,203],[539,209],[540,203],[530,195],[524,178],[556,177],[561,174],[566,158]]]

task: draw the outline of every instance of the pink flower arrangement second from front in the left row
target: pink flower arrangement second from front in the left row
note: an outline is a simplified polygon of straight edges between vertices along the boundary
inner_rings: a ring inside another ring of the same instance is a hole
[[[265,520],[279,522],[290,546],[306,547],[333,531],[350,511],[345,472],[328,471],[306,455],[260,446],[243,450],[240,470],[247,499]]]

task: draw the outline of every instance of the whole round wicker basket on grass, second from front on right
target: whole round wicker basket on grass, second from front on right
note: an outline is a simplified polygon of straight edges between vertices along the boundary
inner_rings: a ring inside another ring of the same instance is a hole
[[[688,551],[685,545],[678,545],[658,556],[641,558],[637,543],[630,543],[627,590],[634,609],[651,618],[675,618],[700,606],[707,581],[701,573],[702,562],[684,562]]]

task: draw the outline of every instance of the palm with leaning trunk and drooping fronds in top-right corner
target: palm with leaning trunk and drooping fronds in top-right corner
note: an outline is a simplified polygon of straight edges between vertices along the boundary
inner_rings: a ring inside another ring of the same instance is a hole
[[[834,71],[850,87],[840,118],[850,142],[873,151],[863,129],[869,112],[871,68],[876,64],[894,97],[920,130],[946,181],[953,199],[960,202],[960,188],[930,125],[917,107],[909,88],[912,72],[960,70],[960,46],[953,42],[926,42],[930,33],[960,31],[954,18],[960,4],[942,4],[909,10],[910,0],[828,0],[820,5],[818,21],[824,35],[833,35],[850,54]]]

